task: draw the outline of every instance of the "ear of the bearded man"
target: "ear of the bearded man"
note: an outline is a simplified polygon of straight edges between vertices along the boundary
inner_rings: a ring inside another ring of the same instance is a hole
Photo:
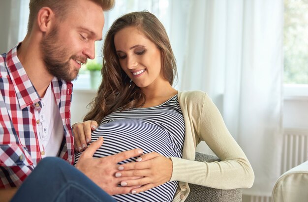
[[[42,7],[37,13],[37,26],[42,32],[48,32],[52,27],[54,12],[49,7]]]

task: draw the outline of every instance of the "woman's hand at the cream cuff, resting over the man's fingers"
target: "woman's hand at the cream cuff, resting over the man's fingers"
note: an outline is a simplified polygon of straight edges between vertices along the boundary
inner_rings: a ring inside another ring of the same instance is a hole
[[[140,179],[122,180],[122,186],[140,186],[131,193],[139,193],[159,186],[171,179],[172,160],[156,152],[144,154],[137,162],[123,164],[119,167],[118,177],[140,176]]]

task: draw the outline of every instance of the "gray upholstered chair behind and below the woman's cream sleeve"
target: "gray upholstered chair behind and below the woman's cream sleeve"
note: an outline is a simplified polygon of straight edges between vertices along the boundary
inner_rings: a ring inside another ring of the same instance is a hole
[[[195,161],[220,161],[217,156],[196,152]],[[189,184],[190,193],[185,202],[241,202],[242,189],[214,189],[210,187]]]

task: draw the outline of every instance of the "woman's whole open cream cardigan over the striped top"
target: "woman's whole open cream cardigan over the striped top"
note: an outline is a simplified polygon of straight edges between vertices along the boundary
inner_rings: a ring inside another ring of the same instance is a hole
[[[226,128],[211,98],[202,91],[178,92],[185,121],[183,157],[171,157],[170,181],[179,181],[173,202],[184,202],[189,194],[188,183],[216,189],[250,188],[254,173],[241,147]],[[220,162],[196,162],[195,148],[201,141],[213,150]]]

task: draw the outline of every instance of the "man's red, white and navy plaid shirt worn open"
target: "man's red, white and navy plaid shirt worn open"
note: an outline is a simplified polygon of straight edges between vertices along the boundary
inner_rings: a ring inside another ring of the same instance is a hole
[[[73,85],[57,78],[51,85],[64,128],[59,155],[73,164],[70,125]],[[0,91],[0,188],[8,188],[21,185],[42,159],[34,116],[41,109],[41,98],[17,58],[17,46],[0,56]]]

